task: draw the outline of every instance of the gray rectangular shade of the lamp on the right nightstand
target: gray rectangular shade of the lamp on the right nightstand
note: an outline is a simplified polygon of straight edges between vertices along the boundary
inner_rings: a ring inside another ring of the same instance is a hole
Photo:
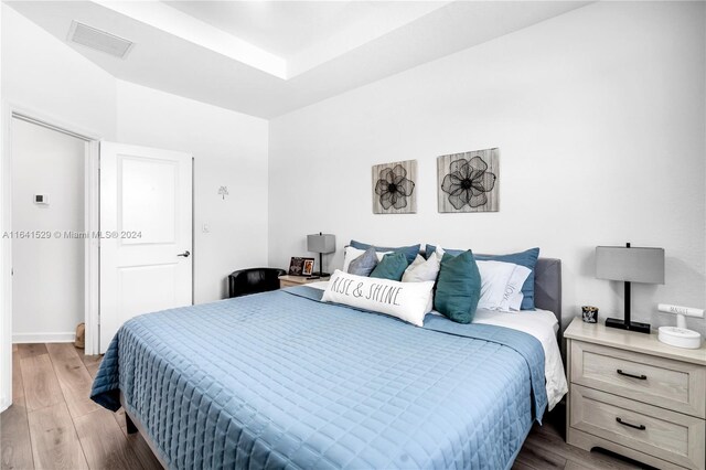
[[[628,282],[664,284],[664,249],[597,246],[596,277]]]

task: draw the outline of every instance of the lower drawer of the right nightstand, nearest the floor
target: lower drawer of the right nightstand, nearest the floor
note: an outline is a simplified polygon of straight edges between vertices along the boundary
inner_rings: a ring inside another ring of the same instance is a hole
[[[703,419],[571,384],[569,426],[687,468],[704,468]]]

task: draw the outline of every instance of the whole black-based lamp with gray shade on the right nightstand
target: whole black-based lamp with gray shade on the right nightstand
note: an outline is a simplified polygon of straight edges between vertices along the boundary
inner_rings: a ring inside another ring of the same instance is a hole
[[[624,318],[608,318],[606,327],[650,333],[649,323],[630,321],[630,282],[664,284],[664,249],[597,246],[596,278],[625,282]]]

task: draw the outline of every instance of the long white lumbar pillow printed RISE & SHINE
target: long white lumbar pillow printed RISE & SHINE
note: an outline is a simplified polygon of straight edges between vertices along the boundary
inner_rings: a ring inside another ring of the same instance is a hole
[[[424,317],[429,312],[432,288],[434,281],[399,282],[336,269],[321,300],[386,313],[422,327]]]

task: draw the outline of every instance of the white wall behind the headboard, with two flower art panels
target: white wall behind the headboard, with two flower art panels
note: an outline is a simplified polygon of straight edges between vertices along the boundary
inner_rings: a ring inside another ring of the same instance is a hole
[[[666,285],[633,285],[633,318],[705,303],[704,3],[601,2],[270,122],[269,259],[318,231],[563,259],[564,317],[622,316],[597,245],[662,246]],[[437,213],[436,157],[501,150],[501,210]],[[371,165],[418,161],[415,215],[374,215]],[[703,320],[689,325],[706,331]]]

